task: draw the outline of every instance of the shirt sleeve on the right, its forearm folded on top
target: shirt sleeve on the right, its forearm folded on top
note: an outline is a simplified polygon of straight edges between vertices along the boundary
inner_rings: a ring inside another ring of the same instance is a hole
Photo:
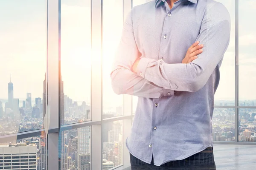
[[[196,39],[204,45],[198,58],[188,64],[168,64],[162,60],[142,58],[137,74],[154,84],[175,91],[196,92],[204,87],[223,59],[230,42],[230,14],[217,3],[205,10]]]

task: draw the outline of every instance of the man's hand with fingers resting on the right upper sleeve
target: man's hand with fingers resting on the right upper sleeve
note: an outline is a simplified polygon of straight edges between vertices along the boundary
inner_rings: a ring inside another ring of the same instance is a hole
[[[192,44],[189,47],[185,58],[182,60],[183,64],[192,62],[194,59],[198,58],[198,56],[197,56],[198,54],[201,54],[203,52],[202,48],[204,47],[204,45],[203,44],[198,45],[198,44],[199,44],[199,41],[195,42],[194,44]]]

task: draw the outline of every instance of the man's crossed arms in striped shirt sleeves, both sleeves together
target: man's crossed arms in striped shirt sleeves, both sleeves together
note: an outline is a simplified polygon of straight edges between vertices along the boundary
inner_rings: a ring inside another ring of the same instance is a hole
[[[189,63],[168,64],[143,57],[136,72],[132,66],[138,58],[131,12],[125,20],[122,37],[111,71],[112,88],[116,94],[147,98],[174,96],[174,91],[196,92],[204,87],[221,61],[230,41],[230,15],[217,3],[206,11],[196,41],[204,44],[204,52]],[[157,77],[157,78],[156,78]]]

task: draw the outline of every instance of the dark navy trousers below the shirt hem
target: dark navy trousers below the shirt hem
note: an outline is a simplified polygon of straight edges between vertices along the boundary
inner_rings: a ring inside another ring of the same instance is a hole
[[[131,153],[130,161],[131,170],[216,170],[213,147],[207,147],[205,150],[186,159],[169,161],[161,166],[154,165],[153,157],[151,164],[147,164],[131,155]]]

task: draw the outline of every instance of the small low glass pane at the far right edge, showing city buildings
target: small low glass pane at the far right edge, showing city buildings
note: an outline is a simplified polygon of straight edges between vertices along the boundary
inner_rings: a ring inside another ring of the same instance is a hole
[[[239,109],[239,141],[256,142],[256,109]]]

